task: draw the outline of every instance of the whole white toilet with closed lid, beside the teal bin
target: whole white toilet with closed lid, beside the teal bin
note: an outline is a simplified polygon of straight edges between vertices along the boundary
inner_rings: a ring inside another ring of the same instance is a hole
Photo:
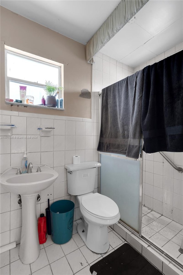
[[[67,192],[76,195],[83,220],[77,232],[85,245],[95,253],[109,249],[108,226],[120,219],[119,208],[110,198],[93,193],[99,162],[67,164]]]

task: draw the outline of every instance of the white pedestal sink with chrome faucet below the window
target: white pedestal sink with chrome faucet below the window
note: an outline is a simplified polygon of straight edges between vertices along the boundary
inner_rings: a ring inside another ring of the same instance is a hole
[[[20,167],[19,167],[20,168]],[[39,256],[40,245],[37,230],[36,201],[40,191],[49,187],[58,177],[58,173],[48,166],[33,166],[32,173],[16,175],[16,170],[8,168],[1,175],[1,184],[5,190],[21,195],[22,231],[19,258],[23,264],[31,264]]]

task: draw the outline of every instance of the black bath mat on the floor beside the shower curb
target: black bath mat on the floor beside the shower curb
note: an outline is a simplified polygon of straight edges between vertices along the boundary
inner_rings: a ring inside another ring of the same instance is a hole
[[[128,243],[93,264],[89,270],[97,275],[162,275]]]

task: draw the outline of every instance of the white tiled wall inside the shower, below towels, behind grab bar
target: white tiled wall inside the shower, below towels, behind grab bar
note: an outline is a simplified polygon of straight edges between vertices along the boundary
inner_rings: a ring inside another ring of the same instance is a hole
[[[176,165],[183,167],[181,165],[183,153],[164,153],[168,156],[168,158],[170,158],[170,160],[173,162],[176,161]],[[144,205],[150,207],[158,213],[163,213],[164,216],[173,219],[176,222],[183,224],[182,175],[178,171],[174,170],[174,168],[160,154],[159,155],[161,157],[159,157],[158,154],[159,153],[151,154],[154,155],[154,161],[152,161],[149,160],[149,155],[144,153]],[[152,171],[152,166],[154,166],[154,173],[150,172]],[[151,188],[150,185],[152,185]]]

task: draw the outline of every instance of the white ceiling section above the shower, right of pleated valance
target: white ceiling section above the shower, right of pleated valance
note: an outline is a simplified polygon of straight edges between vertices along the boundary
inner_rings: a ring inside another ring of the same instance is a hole
[[[150,0],[101,50],[132,66],[183,41],[183,1]]]

